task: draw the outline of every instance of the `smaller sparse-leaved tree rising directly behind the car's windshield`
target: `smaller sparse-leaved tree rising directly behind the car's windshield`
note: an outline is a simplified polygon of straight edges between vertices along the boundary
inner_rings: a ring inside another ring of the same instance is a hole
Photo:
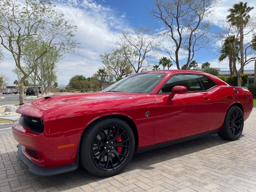
[[[121,41],[116,44],[121,47],[128,63],[135,73],[147,70],[150,65],[145,61],[157,53],[160,41],[156,35],[151,35],[150,28],[135,28],[134,33],[123,31]]]

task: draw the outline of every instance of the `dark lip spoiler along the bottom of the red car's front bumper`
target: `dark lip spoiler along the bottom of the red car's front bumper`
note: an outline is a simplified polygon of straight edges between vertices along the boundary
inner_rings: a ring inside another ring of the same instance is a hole
[[[57,175],[61,173],[71,172],[78,168],[78,154],[76,156],[76,161],[69,165],[58,166],[58,167],[42,167],[37,165],[36,163],[29,160],[24,154],[24,146],[21,144],[17,145],[18,148],[18,157],[19,159],[29,167],[29,171],[32,172],[34,175],[38,176],[50,176],[50,175]],[[79,151],[79,150],[78,150]]]

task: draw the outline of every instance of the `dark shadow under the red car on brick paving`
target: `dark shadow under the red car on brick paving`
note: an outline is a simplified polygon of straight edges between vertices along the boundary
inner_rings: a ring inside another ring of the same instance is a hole
[[[243,135],[242,135],[243,136]],[[17,158],[17,151],[15,153],[13,151],[8,153],[0,153],[2,157],[4,158],[2,161],[8,161],[9,160],[13,162],[12,159],[17,159],[16,162],[14,162],[15,165],[9,165],[6,166],[4,169],[12,169],[13,166],[15,173],[14,175],[8,175],[8,177],[17,176],[20,180],[20,177],[22,178],[22,183],[25,184],[31,184],[32,186],[39,185],[41,186],[41,189],[45,189],[48,187],[53,186],[66,186],[67,189],[73,189],[79,186],[84,186],[86,184],[90,184],[93,182],[98,183],[106,183],[109,180],[113,178],[119,178],[119,177],[125,177],[126,175],[131,175],[133,173],[139,173],[146,174],[147,171],[154,170],[157,168],[154,167],[157,163],[162,163],[168,161],[168,163],[172,163],[172,160],[179,157],[185,157],[186,155],[193,154],[202,150],[206,151],[216,151],[218,150],[215,148],[215,146],[222,145],[229,143],[231,141],[221,139],[218,137],[217,134],[209,135],[206,137],[201,137],[195,140],[190,140],[184,143],[179,143],[176,145],[171,145],[168,147],[155,149],[152,151],[146,151],[140,154],[134,155],[129,165],[126,167],[126,169],[120,173],[119,175],[115,175],[113,177],[97,177],[89,172],[87,172],[85,169],[83,169],[81,166],[73,172],[63,173],[59,175],[52,175],[48,177],[40,177],[35,176],[31,172],[28,171],[28,167],[23,164],[18,158]],[[209,157],[208,157],[209,158]],[[168,163],[166,165],[168,166]],[[192,162],[193,163],[193,162]],[[1,166],[0,166],[1,168]],[[1,169],[0,169],[1,171]],[[0,178],[1,180],[5,179],[4,177]],[[35,187],[36,188],[36,187]],[[59,190],[66,190],[66,189],[59,189]]]

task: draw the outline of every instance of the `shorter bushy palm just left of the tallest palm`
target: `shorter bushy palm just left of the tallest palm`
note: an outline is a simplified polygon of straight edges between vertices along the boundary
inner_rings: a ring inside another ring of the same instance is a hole
[[[224,61],[226,58],[229,58],[230,78],[232,75],[234,75],[234,69],[236,68],[236,59],[240,59],[238,56],[238,52],[239,52],[239,47],[237,47],[238,44],[239,42],[235,38],[235,35],[227,37],[224,40],[222,49],[220,51],[221,55],[218,58],[219,62]]]

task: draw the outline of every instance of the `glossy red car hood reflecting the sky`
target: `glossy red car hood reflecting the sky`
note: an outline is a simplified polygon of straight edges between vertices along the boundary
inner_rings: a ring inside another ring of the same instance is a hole
[[[65,108],[73,105],[84,105],[89,103],[109,102],[116,99],[132,99],[145,94],[141,93],[117,93],[117,92],[97,92],[97,93],[74,93],[46,96],[41,99],[26,103],[30,107],[49,111],[56,108]]]

